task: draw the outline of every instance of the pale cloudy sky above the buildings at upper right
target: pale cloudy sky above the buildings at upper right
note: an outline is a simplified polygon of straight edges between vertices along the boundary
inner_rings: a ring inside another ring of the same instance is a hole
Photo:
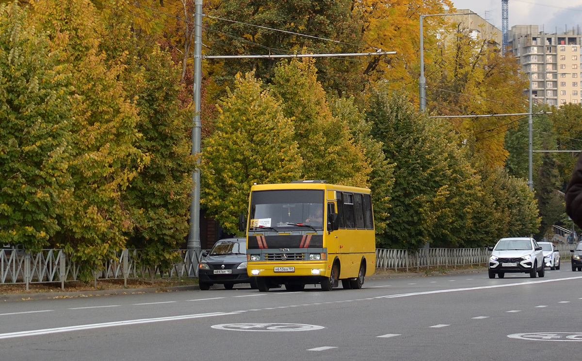
[[[457,9],[470,9],[501,29],[501,0],[452,0]],[[542,26],[546,33],[567,28],[582,34],[582,0],[509,0],[509,28],[514,25]]]

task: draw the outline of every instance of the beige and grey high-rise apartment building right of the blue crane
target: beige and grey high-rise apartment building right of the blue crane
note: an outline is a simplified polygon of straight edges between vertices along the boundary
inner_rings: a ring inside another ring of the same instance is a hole
[[[549,105],[580,103],[580,30],[553,34],[537,25],[516,25],[509,31],[509,46],[523,73],[531,81],[534,102]]]

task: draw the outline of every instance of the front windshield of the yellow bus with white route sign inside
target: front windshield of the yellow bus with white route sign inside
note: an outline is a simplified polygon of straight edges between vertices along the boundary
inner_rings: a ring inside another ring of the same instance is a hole
[[[307,224],[324,227],[324,191],[275,190],[254,191],[251,194],[250,231],[260,228],[276,231],[308,230]]]

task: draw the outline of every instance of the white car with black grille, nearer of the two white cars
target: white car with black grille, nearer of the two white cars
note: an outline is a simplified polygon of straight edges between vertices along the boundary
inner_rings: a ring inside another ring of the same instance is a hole
[[[531,278],[544,277],[544,253],[533,238],[501,238],[489,247],[489,278],[505,277],[506,273],[529,273]]]

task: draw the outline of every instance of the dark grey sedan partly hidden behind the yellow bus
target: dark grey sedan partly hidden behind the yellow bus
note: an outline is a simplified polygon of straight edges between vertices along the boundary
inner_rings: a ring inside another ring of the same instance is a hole
[[[213,284],[223,284],[224,288],[232,289],[237,283],[251,283],[251,278],[247,275],[245,238],[220,240],[209,253],[204,252],[202,255],[198,265],[200,289],[205,291]]]

